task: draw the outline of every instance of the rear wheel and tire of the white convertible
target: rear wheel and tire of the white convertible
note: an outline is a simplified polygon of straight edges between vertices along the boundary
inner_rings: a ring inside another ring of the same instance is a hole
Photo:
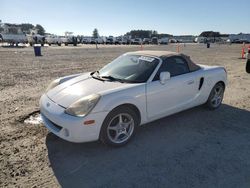
[[[208,100],[207,107],[210,110],[215,110],[221,106],[223,96],[224,96],[225,86],[222,82],[215,84],[213,89],[211,90]]]

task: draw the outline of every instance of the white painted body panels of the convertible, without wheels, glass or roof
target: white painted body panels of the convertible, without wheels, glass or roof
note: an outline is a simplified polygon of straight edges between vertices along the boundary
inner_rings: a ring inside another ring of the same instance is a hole
[[[40,109],[45,126],[71,142],[95,141],[99,139],[106,116],[120,105],[136,107],[140,113],[140,125],[143,125],[206,103],[214,85],[227,82],[223,67],[205,65],[200,65],[197,71],[171,77],[166,84],[152,81],[161,64],[160,59],[145,83],[103,82],[93,79],[90,73],[61,78],[61,84],[41,97]],[[199,88],[201,78],[204,81]],[[73,102],[91,94],[98,94],[101,98],[87,116],[74,117],[65,113]],[[85,125],[89,120],[95,120],[95,123]]]

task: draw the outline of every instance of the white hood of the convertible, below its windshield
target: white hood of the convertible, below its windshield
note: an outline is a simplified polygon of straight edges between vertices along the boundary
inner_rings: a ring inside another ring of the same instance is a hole
[[[133,85],[136,84],[101,81],[92,78],[89,74],[84,74],[49,90],[47,96],[56,104],[67,108],[82,97],[91,94],[102,95],[103,93],[133,87]]]

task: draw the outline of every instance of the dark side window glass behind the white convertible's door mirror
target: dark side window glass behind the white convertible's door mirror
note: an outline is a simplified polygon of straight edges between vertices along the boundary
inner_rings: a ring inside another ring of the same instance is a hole
[[[189,72],[187,62],[181,57],[170,57],[162,62],[161,67],[156,73],[153,81],[160,79],[161,72],[170,72],[171,77],[178,76]]]

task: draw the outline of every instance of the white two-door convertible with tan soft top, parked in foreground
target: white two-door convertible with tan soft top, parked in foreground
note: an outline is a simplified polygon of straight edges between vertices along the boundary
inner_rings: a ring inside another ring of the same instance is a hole
[[[223,67],[197,65],[183,54],[130,52],[99,71],[56,79],[40,111],[45,126],[65,140],[121,146],[139,125],[197,105],[218,108],[226,82]]]

